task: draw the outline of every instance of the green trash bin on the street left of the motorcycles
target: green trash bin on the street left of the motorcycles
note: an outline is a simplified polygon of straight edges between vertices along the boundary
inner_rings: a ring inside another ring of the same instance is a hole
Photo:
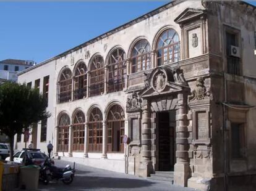
[[[25,185],[26,190],[38,189],[40,167],[36,165],[28,165],[20,167],[20,187]]]

